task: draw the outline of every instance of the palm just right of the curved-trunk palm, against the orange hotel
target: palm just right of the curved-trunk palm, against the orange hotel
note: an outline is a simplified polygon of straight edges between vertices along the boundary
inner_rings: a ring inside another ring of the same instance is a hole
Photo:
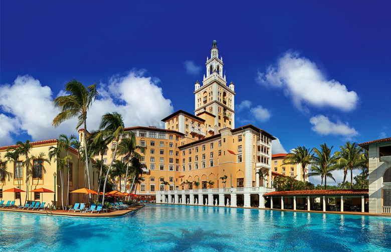
[[[123,138],[121,142],[118,144],[118,155],[124,155],[124,161],[126,162],[126,174],[125,174],[125,191],[127,188],[127,180],[128,180],[128,171],[129,166],[131,164],[131,159],[133,157],[141,158],[140,154],[136,152],[139,149],[140,151],[145,150],[145,147],[137,145],[136,137],[133,132],[128,132],[128,136]],[[135,178],[135,176],[133,177]],[[134,184],[134,180],[132,181]]]

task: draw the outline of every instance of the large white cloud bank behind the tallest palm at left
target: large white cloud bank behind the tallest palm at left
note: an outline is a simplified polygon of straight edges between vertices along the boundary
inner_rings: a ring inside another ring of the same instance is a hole
[[[100,96],[87,115],[89,130],[97,129],[101,116],[117,111],[122,114],[125,126],[163,126],[161,118],[173,111],[171,101],[163,96],[157,78],[144,76],[145,71],[131,71],[126,76],[115,76],[107,85],[101,84]],[[63,95],[60,91],[59,95]],[[53,106],[53,93],[49,86],[29,76],[18,76],[14,83],[0,85],[0,112],[2,129],[0,145],[11,140],[11,132],[26,132],[33,140],[57,138],[60,133],[76,133],[76,119],[52,126],[59,112]],[[3,121],[5,125],[3,126]]]

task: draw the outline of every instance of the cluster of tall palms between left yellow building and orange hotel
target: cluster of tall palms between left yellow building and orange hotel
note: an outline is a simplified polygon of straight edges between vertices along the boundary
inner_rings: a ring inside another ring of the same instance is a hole
[[[140,163],[139,154],[136,150],[141,150],[143,147],[136,144],[136,139],[132,132],[125,131],[122,115],[117,112],[104,114],[99,129],[92,131],[88,136],[87,113],[99,95],[96,84],[85,87],[81,82],[74,79],[66,84],[65,91],[66,95],[58,96],[53,101],[55,106],[60,109],[60,112],[53,119],[53,125],[58,126],[65,120],[73,117],[78,118],[76,129],[83,125],[83,143],[79,144],[77,149],[85,163],[88,188],[91,189],[90,161],[95,155],[100,155],[101,158],[96,161],[94,167],[99,170],[98,195],[102,189],[102,204],[104,204],[106,185],[110,175],[112,177],[116,175],[122,176],[125,173],[125,189],[127,188],[128,177],[131,175],[130,191],[132,191],[134,184],[137,184],[142,179],[141,174],[144,164]],[[111,161],[106,166],[103,163],[103,153],[107,151],[110,142],[115,143],[115,145],[111,155]],[[117,160],[117,157],[120,155],[124,157],[122,160]],[[64,159],[59,165],[66,162],[68,161]],[[121,181],[121,179],[119,180]],[[102,182],[103,186],[101,186]],[[91,194],[89,197],[91,200]]]

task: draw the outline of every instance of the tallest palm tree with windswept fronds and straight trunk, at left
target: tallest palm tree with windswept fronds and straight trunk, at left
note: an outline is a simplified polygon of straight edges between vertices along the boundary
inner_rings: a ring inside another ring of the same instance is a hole
[[[69,95],[58,96],[53,100],[56,107],[60,108],[60,113],[53,119],[53,125],[58,126],[63,121],[73,117],[78,117],[76,129],[83,125],[84,129],[84,155],[85,155],[85,172],[88,179],[88,188],[91,189],[90,171],[88,168],[88,146],[87,146],[87,111],[90,109],[94,100],[98,97],[96,84],[90,85],[87,88],[76,79],[71,80],[65,85],[65,91]],[[91,194],[89,194],[91,200]]]

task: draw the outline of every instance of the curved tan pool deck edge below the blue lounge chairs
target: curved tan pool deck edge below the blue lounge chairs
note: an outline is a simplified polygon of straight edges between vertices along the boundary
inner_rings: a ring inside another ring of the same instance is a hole
[[[47,212],[46,210],[26,210],[26,209],[13,209],[13,208],[0,208],[0,211],[72,216],[72,217],[119,217],[119,216],[126,215],[130,212],[137,211],[138,209],[144,206],[145,205],[137,205],[137,206],[131,206],[128,209],[124,209],[124,210],[100,212],[100,213],[74,212],[74,211],[66,211],[66,210],[54,210],[52,211],[52,213],[50,213],[49,211]]]

